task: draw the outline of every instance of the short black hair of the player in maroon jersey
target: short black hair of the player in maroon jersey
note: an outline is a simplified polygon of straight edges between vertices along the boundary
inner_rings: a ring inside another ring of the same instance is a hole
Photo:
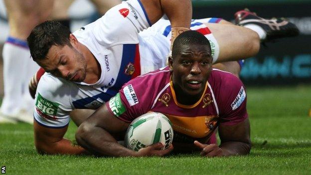
[[[174,40],[172,58],[177,56],[182,46],[191,44],[208,45],[209,50],[211,51],[209,40],[203,34],[195,30],[188,30],[179,34]]]

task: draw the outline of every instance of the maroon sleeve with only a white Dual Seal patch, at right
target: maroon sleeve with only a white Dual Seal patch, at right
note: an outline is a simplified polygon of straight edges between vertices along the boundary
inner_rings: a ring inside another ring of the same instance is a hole
[[[231,73],[221,79],[220,94],[218,95],[218,108],[220,123],[235,125],[247,117],[246,91],[242,81]],[[217,81],[217,80],[216,80]]]

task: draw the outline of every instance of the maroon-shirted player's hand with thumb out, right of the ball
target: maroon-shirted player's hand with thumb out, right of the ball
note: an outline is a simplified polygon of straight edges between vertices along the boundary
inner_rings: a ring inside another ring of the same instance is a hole
[[[198,141],[194,141],[194,145],[202,149],[200,155],[205,157],[219,157],[224,156],[221,148],[217,144],[202,144]]]

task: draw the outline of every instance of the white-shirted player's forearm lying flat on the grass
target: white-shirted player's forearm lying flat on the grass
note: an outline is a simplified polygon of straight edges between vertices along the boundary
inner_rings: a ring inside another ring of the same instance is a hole
[[[37,152],[40,154],[68,154],[68,155],[81,155],[87,154],[87,151],[78,146],[73,145],[71,141],[62,139],[58,142],[43,143],[36,142]]]

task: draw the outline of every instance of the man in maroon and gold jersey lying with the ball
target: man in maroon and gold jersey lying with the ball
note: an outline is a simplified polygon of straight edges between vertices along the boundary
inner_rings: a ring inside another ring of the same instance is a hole
[[[173,146],[177,150],[200,150],[206,157],[249,154],[244,85],[231,73],[212,69],[209,41],[196,31],[181,33],[174,41],[168,63],[165,68],[126,83],[80,125],[77,142],[95,154],[116,157],[163,156]],[[116,107],[115,103],[121,105]],[[163,145],[157,143],[135,152],[118,144],[112,135],[126,131],[131,121],[148,111],[170,119],[173,146],[159,150]],[[217,127],[219,146],[208,142]]]

